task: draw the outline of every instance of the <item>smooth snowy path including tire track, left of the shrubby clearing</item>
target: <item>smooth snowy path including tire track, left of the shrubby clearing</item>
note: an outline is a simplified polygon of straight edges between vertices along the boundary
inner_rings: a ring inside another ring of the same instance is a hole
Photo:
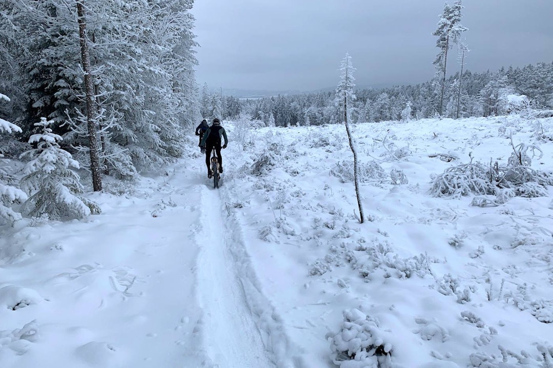
[[[0,302],[28,302],[0,312],[0,366],[274,367],[206,184],[180,162],[132,196],[97,194],[88,222],[2,236]]]

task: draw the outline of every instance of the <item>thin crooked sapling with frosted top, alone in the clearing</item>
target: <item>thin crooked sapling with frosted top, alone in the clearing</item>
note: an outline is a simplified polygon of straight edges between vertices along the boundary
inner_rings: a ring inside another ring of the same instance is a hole
[[[361,204],[361,194],[359,193],[359,169],[357,166],[357,152],[355,150],[353,137],[351,136],[348,125],[348,102],[353,103],[353,101],[355,100],[355,93],[353,91],[353,88],[355,87],[355,78],[353,77],[353,71],[355,69],[353,68],[353,65],[351,63],[351,56],[349,56],[349,54],[346,54],[346,56],[343,58],[340,70],[342,72],[342,75],[340,83],[338,83],[338,86],[336,87],[335,102],[340,110],[343,109],[343,122],[344,125],[346,125],[346,132],[349,139],[349,148],[351,148],[351,151],[353,153],[353,178],[355,182],[357,205],[359,206],[359,222],[363,223],[365,218],[363,214],[363,206]]]

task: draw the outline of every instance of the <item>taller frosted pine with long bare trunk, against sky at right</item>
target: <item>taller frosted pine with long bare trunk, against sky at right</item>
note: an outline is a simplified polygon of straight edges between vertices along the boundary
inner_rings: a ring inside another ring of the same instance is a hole
[[[461,0],[456,0],[453,6],[445,4],[444,13],[442,14],[440,21],[438,22],[438,28],[432,35],[437,36],[436,47],[440,49],[440,52],[436,55],[434,65],[436,66],[437,73],[441,75],[441,93],[440,93],[440,106],[439,113],[442,114],[442,108],[444,107],[444,92],[446,85],[446,66],[447,66],[447,51],[451,48],[452,44],[457,44],[460,41],[461,33],[467,30],[466,27],[461,25]]]

